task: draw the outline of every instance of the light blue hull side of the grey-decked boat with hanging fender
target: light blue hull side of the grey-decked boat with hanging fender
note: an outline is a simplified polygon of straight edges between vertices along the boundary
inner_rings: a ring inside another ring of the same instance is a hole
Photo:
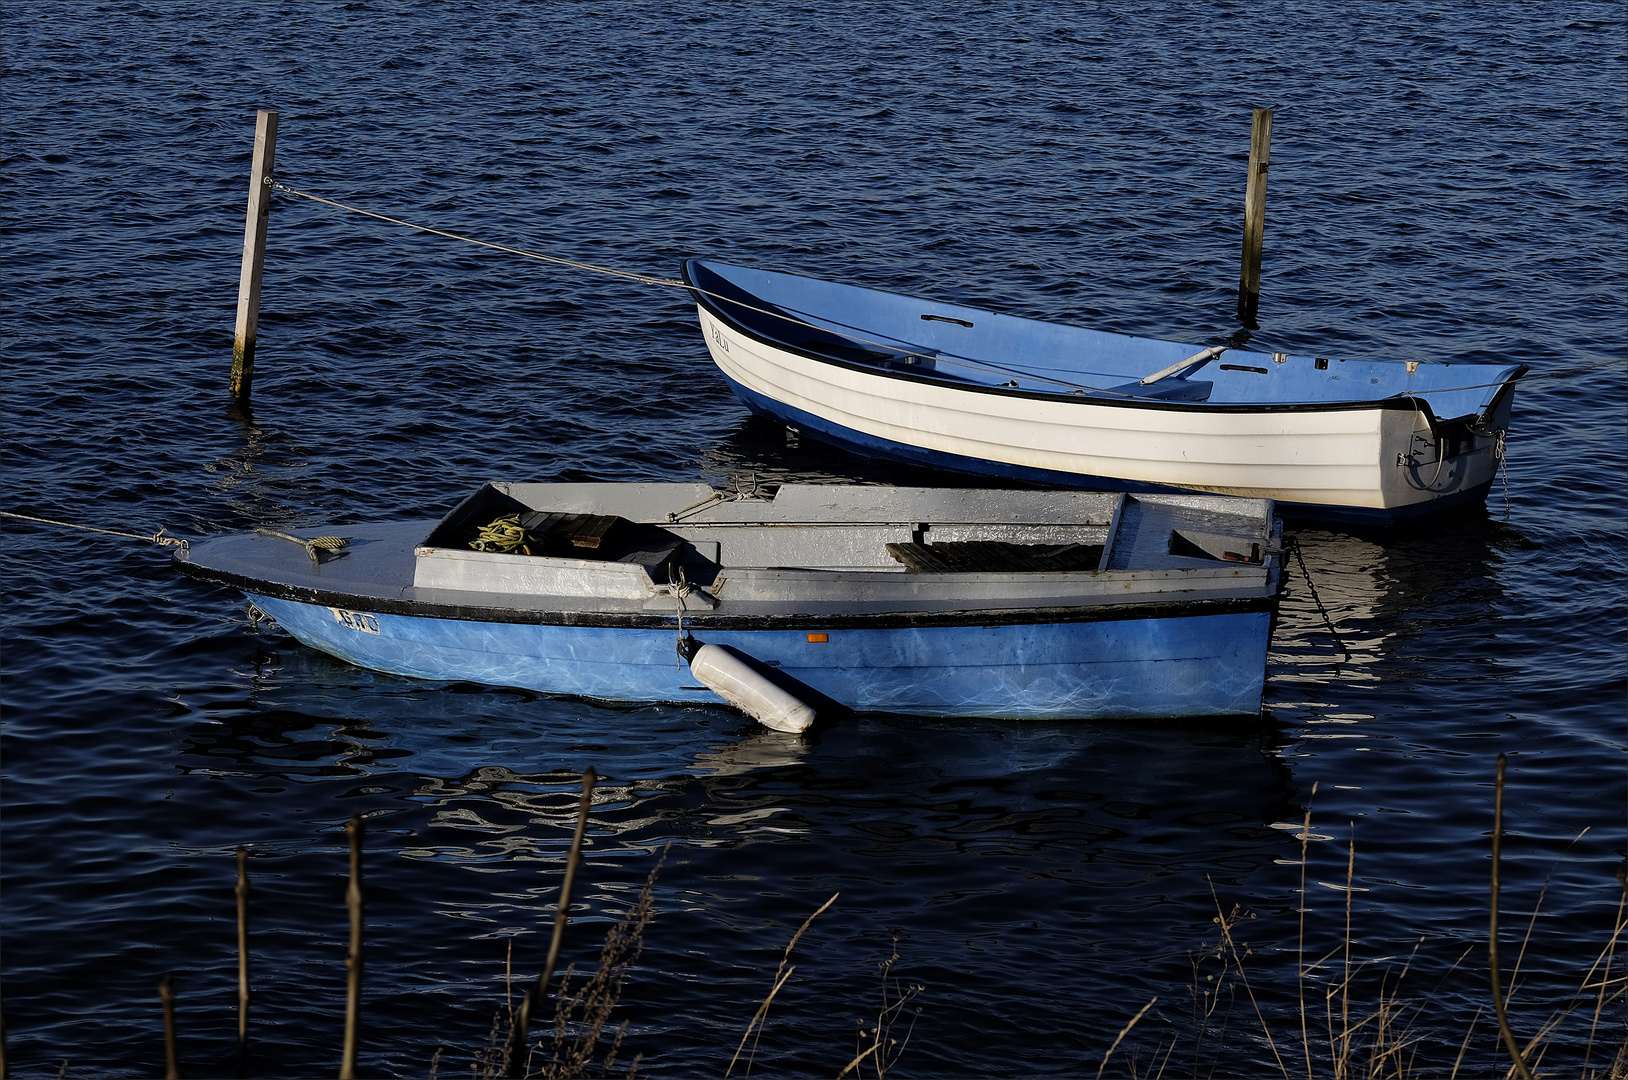
[[[720,699],[694,684],[677,627],[580,627],[358,612],[251,599],[293,637],[363,668],[640,702]],[[949,717],[1257,715],[1271,614],[1027,626],[707,630],[860,712]]]

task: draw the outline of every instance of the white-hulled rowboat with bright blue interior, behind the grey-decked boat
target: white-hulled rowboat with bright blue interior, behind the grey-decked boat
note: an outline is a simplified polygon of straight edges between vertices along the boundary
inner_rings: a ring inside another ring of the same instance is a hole
[[[1286,516],[1389,525],[1483,502],[1527,370],[1200,349],[698,259],[684,277],[741,401],[814,438]]]

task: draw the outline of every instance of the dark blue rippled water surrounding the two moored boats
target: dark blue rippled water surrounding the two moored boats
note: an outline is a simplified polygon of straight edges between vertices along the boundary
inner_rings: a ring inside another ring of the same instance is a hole
[[[444,1046],[462,1073],[510,945],[540,963],[593,764],[567,959],[666,850],[619,1007],[648,1075],[721,1075],[834,893],[759,1075],[835,1075],[895,950],[921,987],[900,1077],[1092,1075],[1154,997],[1107,1075],[1302,1075],[1301,995],[1317,1075],[1341,1008],[1387,999],[1408,1075],[1460,1047],[1459,1075],[1501,1075],[1498,753],[1506,981],[1530,922],[1511,1018],[1558,1016],[1558,1075],[1604,1070],[1621,1000],[1595,1023],[1574,999],[1625,845],[1623,49],[1599,3],[0,5],[11,511],[207,534],[438,513],[487,479],[926,477],[749,422],[676,292],[287,197],[234,415],[259,108],[285,182],[497,243],[1221,340],[1250,109],[1276,106],[1254,344],[1532,367],[1485,513],[1299,531],[1350,656],[1296,580],[1258,723],[881,715],[806,744],[724,709],[430,686],[252,626],[150,544],[7,521],[11,1070],[158,1075],[174,972],[186,1069],[231,1072],[239,844],[254,1075],[335,1070],[361,813],[363,1072]],[[1350,898],[1348,999],[1345,953],[1296,976],[1307,811],[1304,953],[1346,940]],[[1328,888],[1353,849],[1359,891]],[[1234,907],[1263,1021],[1214,958]]]

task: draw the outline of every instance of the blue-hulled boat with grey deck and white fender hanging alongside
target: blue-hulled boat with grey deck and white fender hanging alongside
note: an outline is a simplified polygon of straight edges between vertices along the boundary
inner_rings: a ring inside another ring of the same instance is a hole
[[[470,547],[505,516],[532,554]],[[1254,715],[1281,575],[1271,503],[1213,495],[487,484],[322,531],[337,551],[257,531],[176,564],[363,668],[630,702],[718,700],[690,640],[821,707]]]

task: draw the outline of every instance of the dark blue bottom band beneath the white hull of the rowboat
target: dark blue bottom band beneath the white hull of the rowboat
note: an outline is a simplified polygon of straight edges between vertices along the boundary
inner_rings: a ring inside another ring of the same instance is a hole
[[[1024,484],[1037,484],[1042,487],[1076,487],[1086,490],[1107,490],[1107,492],[1172,492],[1172,490],[1188,490],[1180,487],[1169,487],[1161,484],[1138,484],[1135,481],[1125,481],[1114,476],[1089,476],[1083,472],[1053,472],[1048,469],[1031,469],[1019,464],[1009,464],[1004,461],[993,461],[988,458],[965,458],[961,454],[947,454],[938,450],[926,450],[923,446],[915,446],[910,443],[895,443],[892,440],[877,438],[874,435],[866,435],[863,432],[855,432],[853,428],[834,424],[824,417],[817,417],[812,412],[804,412],[803,409],[794,409],[773,397],[765,397],[752,389],[747,389],[741,383],[731,380],[728,375],[723,376],[729,389],[741,402],[755,412],[757,415],[768,417],[786,427],[794,427],[796,430],[816,438],[822,443],[838,446],[850,453],[866,454],[871,458],[887,458],[891,461],[902,461],[905,464],[923,466],[928,469],[946,469],[951,472],[965,472],[970,476],[998,476],[1008,481],[1021,481]],[[1486,494],[1491,489],[1491,481],[1475,487],[1454,492],[1451,495],[1442,495],[1431,502],[1413,503],[1408,507],[1395,507],[1390,510],[1372,510],[1366,507],[1338,507],[1328,503],[1296,503],[1278,500],[1278,513],[1286,520],[1304,520],[1304,521],[1320,521],[1333,525],[1356,525],[1369,528],[1384,528],[1390,525],[1400,525],[1403,521],[1413,521],[1424,516],[1436,516],[1439,513],[1459,508],[1459,507],[1478,507],[1486,502]],[[1210,492],[1201,492],[1192,489],[1197,495],[1205,495]]]

